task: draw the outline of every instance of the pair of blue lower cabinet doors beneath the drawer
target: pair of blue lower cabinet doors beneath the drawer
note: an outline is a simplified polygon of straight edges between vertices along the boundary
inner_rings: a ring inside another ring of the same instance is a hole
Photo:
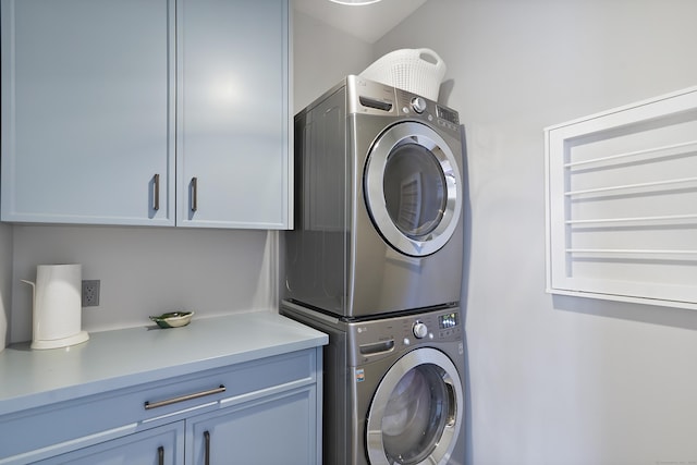
[[[41,465],[316,463],[314,389],[221,408],[38,462]],[[186,431],[186,435],[184,435]],[[186,451],[186,452],[185,452]]]

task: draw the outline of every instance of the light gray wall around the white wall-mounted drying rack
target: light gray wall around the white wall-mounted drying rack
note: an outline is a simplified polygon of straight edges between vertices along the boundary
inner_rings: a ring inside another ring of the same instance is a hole
[[[693,0],[430,0],[467,130],[469,461],[697,463],[697,313],[545,293],[545,126],[697,84]],[[448,89],[452,88],[452,91]]]

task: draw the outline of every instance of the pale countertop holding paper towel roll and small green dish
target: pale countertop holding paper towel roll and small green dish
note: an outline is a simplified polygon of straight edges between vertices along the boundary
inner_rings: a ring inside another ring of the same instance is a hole
[[[0,353],[0,415],[143,382],[281,355],[328,343],[327,334],[272,311],[199,318],[91,333],[64,348],[29,343]]]

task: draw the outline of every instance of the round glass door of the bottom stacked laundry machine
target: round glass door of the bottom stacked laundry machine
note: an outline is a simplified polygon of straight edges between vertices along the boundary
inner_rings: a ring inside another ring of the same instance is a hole
[[[445,465],[463,420],[464,393],[453,363],[435,348],[400,358],[368,412],[371,465]]]

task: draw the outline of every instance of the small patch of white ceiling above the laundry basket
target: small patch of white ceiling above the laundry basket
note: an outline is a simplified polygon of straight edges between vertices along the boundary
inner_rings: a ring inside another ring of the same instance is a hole
[[[293,0],[293,8],[368,44],[374,44],[426,1],[382,0],[356,7],[330,0]]]

